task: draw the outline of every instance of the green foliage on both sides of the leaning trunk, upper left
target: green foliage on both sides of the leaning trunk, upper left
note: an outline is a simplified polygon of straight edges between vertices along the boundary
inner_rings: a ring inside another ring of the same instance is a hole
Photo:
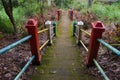
[[[17,27],[22,27],[25,20],[35,15],[36,13],[40,13],[41,2],[37,0],[12,0],[13,1],[13,15],[15,18],[15,22]],[[44,8],[48,8],[45,4]],[[2,3],[0,1],[0,31],[2,32],[13,32],[12,25],[7,17],[5,11],[3,10]]]

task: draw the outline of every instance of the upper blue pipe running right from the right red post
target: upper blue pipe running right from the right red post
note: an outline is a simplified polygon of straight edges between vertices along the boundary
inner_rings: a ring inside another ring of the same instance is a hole
[[[108,49],[110,49],[111,51],[113,51],[115,54],[117,54],[118,56],[120,56],[120,51],[117,50],[116,48],[112,47],[110,44],[106,43],[104,40],[102,39],[98,39],[98,41],[103,44],[105,47],[107,47]]]

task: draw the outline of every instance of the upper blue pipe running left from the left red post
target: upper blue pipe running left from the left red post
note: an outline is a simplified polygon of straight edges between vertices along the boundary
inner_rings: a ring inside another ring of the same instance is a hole
[[[5,52],[9,51],[10,49],[14,48],[15,46],[17,46],[18,44],[21,44],[22,42],[25,42],[26,40],[30,39],[32,36],[31,35],[28,35],[2,49],[0,49],[0,55],[4,54]]]

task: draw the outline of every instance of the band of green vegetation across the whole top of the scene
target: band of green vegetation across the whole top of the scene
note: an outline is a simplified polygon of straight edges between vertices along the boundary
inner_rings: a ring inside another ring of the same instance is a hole
[[[13,32],[13,25],[11,24],[9,17],[4,11],[3,4],[0,0],[0,31],[2,32]],[[10,0],[8,0],[10,1]],[[8,2],[6,1],[6,2]],[[21,28],[26,22],[26,19],[35,14],[43,14],[45,10],[50,9],[48,6],[48,0],[12,0],[13,4],[13,16],[15,24],[18,28]],[[120,1],[115,3],[101,3],[98,0],[93,0],[92,7],[88,8],[88,0],[51,0],[52,6],[58,8],[74,8],[79,10],[81,13],[90,11],[99,20],[106,22],[120,21]],[[103,6],[104,5],[104,6]],[[44,11],[43,11],[44,10]]]

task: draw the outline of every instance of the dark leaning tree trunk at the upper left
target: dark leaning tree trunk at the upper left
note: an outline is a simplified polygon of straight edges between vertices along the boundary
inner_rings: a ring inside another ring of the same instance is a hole
[[[1,0],[2,1],[2,4],[3,4],[3,7],[4,7],[4,10],[6,12],[6,14],[8,15],[12,25],[13,25],[13,29],[14,29],[14,33],[17,32],[17,27],[16,27],[16,24],[15,24],[15,20],[14,20],[14,17],[13,17],[13,3],[12,3],[12,0]]]

